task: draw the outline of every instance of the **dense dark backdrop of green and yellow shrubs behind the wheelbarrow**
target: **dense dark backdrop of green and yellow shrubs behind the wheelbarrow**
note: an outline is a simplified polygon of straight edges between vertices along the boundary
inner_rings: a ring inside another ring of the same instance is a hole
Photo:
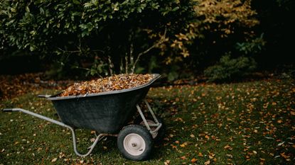
[[[59,78],[159,72],[173,80],[203,74],[228,52],[258,67],[294,61],[291,0],[0,2],[0,64],[38,56]]]

